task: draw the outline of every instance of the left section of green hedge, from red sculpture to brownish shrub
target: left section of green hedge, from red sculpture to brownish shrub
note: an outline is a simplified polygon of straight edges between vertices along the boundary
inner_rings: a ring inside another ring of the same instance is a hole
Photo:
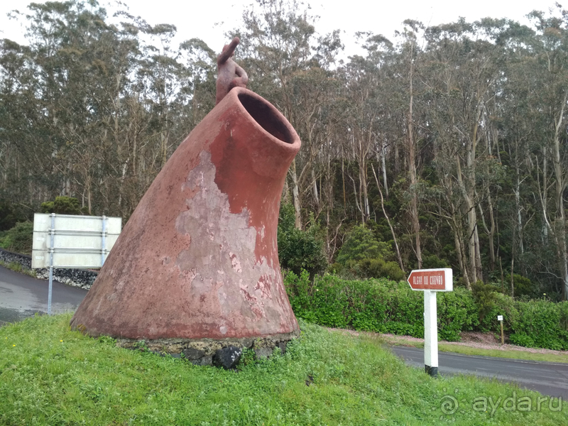
[[[285,287],[297,317],[327,327],[350,327],[424,337],[424,296],[406,283],[386,279],[345,280],[316,277],[306,271],[285,275]],[[459,340],[459,332],[478,324],[473,297],[467,290],[438,295],[442,339]]]

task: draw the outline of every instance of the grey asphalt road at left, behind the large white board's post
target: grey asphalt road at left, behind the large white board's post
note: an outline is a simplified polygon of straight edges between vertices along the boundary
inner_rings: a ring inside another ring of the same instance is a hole
[[[10,271],[0,266],[0,325],[48,312],[48,280]],[[51,312],[76,310],[87,290],[53,280]]]

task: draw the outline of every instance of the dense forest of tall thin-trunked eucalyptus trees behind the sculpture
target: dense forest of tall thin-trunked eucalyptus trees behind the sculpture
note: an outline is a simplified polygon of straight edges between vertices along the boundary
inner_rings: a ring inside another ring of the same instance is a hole
[[[295,0],[243,13],[236,61],[302,139],[280,260],[298,275],[451,267],[516,297],[568,297],[568,12],[405,21],[338,60]],[[0,41],[0,231],[33,212],[129,218],[214,107],[216,55],[97,1],[31,4]],[[112,18],[112,19],[111,19]],[[56,197],[75,197],[77,203]],[[42,207],[43,204],[43,207]],[[25,231],[28,225],[18,225]]]

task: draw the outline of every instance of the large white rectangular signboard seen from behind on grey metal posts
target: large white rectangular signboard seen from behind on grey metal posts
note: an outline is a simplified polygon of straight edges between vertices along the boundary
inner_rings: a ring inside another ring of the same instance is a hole
[[[49,268],[48,314],[53,268],[100,268],[121,229],[121,217],[33,215],[31,267]]]

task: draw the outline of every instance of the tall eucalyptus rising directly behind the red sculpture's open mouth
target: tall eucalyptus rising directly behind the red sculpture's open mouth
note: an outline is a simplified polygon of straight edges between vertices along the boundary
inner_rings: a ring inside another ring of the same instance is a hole
[[[249,87],[275,104],[302,139],[289,172],[295,226],[301,228],[305,194],[320,204],[315,160],[327,142],[321,107],[333,93],[330,65],[342,45],[337,31],[318,37],[315,17],[296,0],[257,3],[258,9],[244,11],[243,28],[234,31],[242,43],[237,53],[249,73]]]

